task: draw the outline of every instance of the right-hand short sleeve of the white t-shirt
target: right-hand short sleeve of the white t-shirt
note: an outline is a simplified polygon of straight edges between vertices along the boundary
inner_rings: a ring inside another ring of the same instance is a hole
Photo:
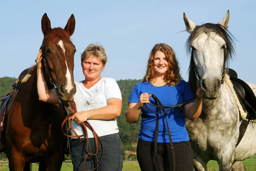
[[[106,80],[106,100],[111,98],[116,98],[122,100],[122,95],[116,80],[113,78],[108,78]]]

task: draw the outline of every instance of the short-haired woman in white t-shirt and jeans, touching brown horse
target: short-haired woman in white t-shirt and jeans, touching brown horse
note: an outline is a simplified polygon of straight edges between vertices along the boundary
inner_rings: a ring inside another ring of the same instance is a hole
[[[37,79],[38,79],[38,96],[41,101],[48,103],[59,103],[58,97],[54,91],[49,91],[44,84],[44,75],[41,64],[41,50],[38,53]],[[116,117],[120,116],[122,110],[122,96],[120,89],[113,78],[101,77],[101,72],[105,68],[107,55],[103,46],[90,44],[81,54],[81,67],[85,79],[75,82],[76,94],[74,101],[76,103],[77,113],[72,116],[73,128],[78,135],[82,135],[81,122],[89,122],[96,133],[99,135],[103,146],[104,155],[98,167],[98,171],[121,171],[122,170],[122,151],[119,130],[117,127]],[[95,150],[95,140],[93,133],[87,129],[91,151]],[[72,132],[74,135],[74,133]],[[83,168],[84,156],[87,154],[87,141],[71,139],[71,154],[73,162]],[[102,155],[102,148],[99,144],[98,159]],[[96,168],[96,157],[87,157],[85,170]],[[74,165],[74,171],[79,169]]]

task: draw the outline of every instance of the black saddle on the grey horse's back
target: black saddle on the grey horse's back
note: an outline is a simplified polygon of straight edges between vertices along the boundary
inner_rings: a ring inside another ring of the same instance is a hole
[[[244,111],[247,111],[247,119],[256,119],[256,97],[250,86],[238,78],[235,70],[228,69],[228,75],[233,83],[234,90],[238,96]]]

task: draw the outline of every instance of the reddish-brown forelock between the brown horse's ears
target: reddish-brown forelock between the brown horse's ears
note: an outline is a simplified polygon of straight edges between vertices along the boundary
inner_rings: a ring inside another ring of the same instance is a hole
[[[68,34],[68,32],[60,27],[51,29],[49,34],[47,34],[44,37],[44,41],[52,42],[56,38],[57,38],[57,40],[71,42],[70,35]]]

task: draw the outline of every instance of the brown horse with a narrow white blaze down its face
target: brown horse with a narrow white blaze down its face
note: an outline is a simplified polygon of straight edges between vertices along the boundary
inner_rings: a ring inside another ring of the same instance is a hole
[[[62,101],[72,101],[76,93],[73,79],[76,48],[70,36],[75,30],[75,17],[71,15],[64,29],[52,29],[45,13],[41,26],[43,59],[47,66],[47,69],[43,67],[43,72],[47,85],[49,89],[56,86]],[[65,137],[61,132],[64,108],[39,101],[35,66],[27,72],[12,97],[7,110],[4,149],[10,171],[30,170],[31,162],[40,163],[39,171],[59,171],[64,160]]]

